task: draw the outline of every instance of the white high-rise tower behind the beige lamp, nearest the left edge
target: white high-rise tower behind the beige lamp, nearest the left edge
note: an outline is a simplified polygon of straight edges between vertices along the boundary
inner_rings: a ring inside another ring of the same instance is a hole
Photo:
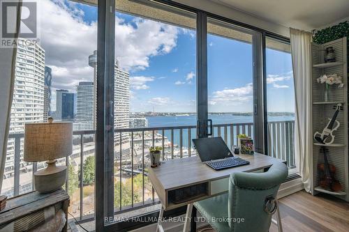
[[[10,133],[24,133],[25,123],[42,123],[44,121],[45,50],[38,44],[26,43],[22,38],[18,40]],[[23,143],[21,143],[20,172],[28,173],[33,166],[23,161],[23,150]],[[15,140],[8,139],[3,178],[13,177],[14,161]],[[20,193],[27,186],[24,184],[25,181],[26,178],[21,177]],[[4,182],[6,183],[6,180]],[[6,188],[12,187],[12,185],[3,185],[3,192],[8,191]]]

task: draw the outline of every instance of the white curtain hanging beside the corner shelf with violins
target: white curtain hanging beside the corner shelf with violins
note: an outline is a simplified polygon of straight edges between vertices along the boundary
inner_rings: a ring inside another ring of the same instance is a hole
[[[295,158],[304,189],[311,191],[311,39],[310,32],[290,29],[293,76],[295,79]]]

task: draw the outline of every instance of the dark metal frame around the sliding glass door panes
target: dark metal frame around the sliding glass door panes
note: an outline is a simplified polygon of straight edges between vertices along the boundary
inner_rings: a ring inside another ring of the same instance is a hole
[[[110,104],[114,101],[114,20],[115,20],[115,1],[116,0],[105,0],[98,1],[98,82],[97,82],[97,126],[96,128],[96,185],[95,185],[95,218],[96,218],[96,231],[129,231],[130,229],[138,229],[142,226],[146,226],[149,223],[142,222],[117,222],[112,224],[105,224],[105,215],[114,217],[114,209],[110,210],[110,206],[107,202],[111,199],[113,194],[107,194],[105,188],[110,186],[110,179],[105,178],[105,171],[110,170],[110,167],[105,166],[105,159],[110,159],[107,154],[113,151],[114,143],[113,133],[107,132],[105,129],[105,123],[110,123],[114,121],[112,116],[112,108]],[[142,1],[142,0],[140,0]],[[209,13],[205,10],[199,10],[197,8],[192,8],[181,3],[176,3],[170,0],[152,0],[156,3],[161,3],[163,5],[179,8],[181,10],[186,10],[191,13],[195,13],[196,17],[196,33],[197,33],[197,114],[198,114],[198,133],[202,133],[202,137],[207,136],[207,17],[214,20],[220,20],[228,24],[239,26],[251,31],[260,33],[260,47],[255,50],[257,54],[255,56],[257,59],[253,59],[255,62],[254,72],[259,72],[262,78],[254,78],[257,84],[257,88],[253,91],[253,95],[257,95],[261,99],[262,104],[258,104],[253,100],[253,105],[257,105],[257,111],[255,112],[255,117],[257,123],[255,123],[255,128],[258,130],[256,141],[258,145],[256,149],[260,153],[267,155],[267,95],[266,93],[266,45],[265,38],[275,38],[283,42],[290,43],[290,39],[281,36],[277,33],[267,31],[265,29],[260,29],[243,22],[238,22],[236,20],[231,20],[214,13]],[[147,1],[142,1],[147,3]],[[256,69],[256,70],[255,70]],[[255,75],[253,75],[255,77]],[[109,88],[105,88],[107,84],[112,84]],[[206,94],[205,94],[206,93]],[[110,98],[112,96],[112,98]],[[199,101],[200,100],[200,101]],[[201,102],[201,104],[200,104]],[[113,104],[112,104],[113,105]],[[111,113],[111,114],[110,114]],[[254,118],[255,118],[254,117]],[[255,119],[254,119],[255,121]],[[101,126],[103,125],[103,126]],[[114,125],[114,123],[110,123]],[[258,140],[257,140],[258,139]],[[114,154],[113,152],[111,154]],[[109,155],[110,156],[110,155]],[[109,172],[108,172],[109,173]],[[113,191],[111,191],[113,192]],[[111,201],[114,202],[114,201]],[[170,210],[165,212],[166,216],[177,216],[182,215],[186,211],[186,208],[178,208],[176,210]],[[158,211],[149,212],[145,215],[138,216],[141,218],[152,218],[158,217]]]

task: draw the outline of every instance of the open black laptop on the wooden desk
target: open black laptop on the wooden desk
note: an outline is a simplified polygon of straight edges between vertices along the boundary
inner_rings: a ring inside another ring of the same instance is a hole
[[[222,137],[193,139],[193,144],[200,160],[214,170],[250,164],[240,157],[234,157]]]

